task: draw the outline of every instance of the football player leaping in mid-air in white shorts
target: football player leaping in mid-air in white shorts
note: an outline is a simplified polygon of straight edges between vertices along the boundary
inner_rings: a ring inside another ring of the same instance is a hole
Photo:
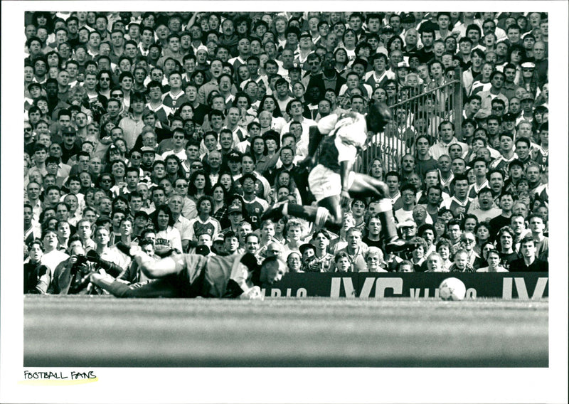
[[[310,128],[309,156],[304,164],[314,166],[309,174],[310,191],[316,197],[318,207],[294,203],[278,203],[269,208],[263,219],[278,220],[284,215],[311,220],[317,226],[337,229],[341,227],[342,209],[350,198],[372,197],[379,199],[378,216],[384,231],[388,250],[407,247],[400,240],[393,219],[393,209],[387,185],[366,174],[352,171],[358,149],[366,144],[368,131],[379,133],[390,119],[388,107],[373,104],[364,117],[356,112],[329,115],[320,119],[317,127]],[[316,151],[320,149],[318,158]]]

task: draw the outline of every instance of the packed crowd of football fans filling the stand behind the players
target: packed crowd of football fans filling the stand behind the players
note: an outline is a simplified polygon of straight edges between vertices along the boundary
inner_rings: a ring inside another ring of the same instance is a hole
[[[546,14],[36,11],[25,36],[24,293],[151,282],[133,245],[289,272],[548,270]],[[438,102],[453,80],[462,110]],[[408,248],[344,188],[341,227],[267,216],[316,206],[311,127],[377,103],[393,120],[355,169],[385,182]]]

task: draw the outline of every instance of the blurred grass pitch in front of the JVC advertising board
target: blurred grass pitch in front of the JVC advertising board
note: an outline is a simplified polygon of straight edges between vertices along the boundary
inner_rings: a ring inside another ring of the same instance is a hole
[[[26,296],[23,365],[544,367],[548,302]]]

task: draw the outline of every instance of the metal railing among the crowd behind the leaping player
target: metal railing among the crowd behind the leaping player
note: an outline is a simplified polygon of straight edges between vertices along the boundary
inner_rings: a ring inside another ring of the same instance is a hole
[[[425,134],[433,144],[438,140],[438,126],[445,120],[454,123],[455,136],[462,139],[462,105],[460,68],[454,70],[453,80],[445,80],[437,87],[427,85],[417,90],[400,91],[397,102],[388,102],[393,121],[383,133],[368,139],[358,171],[368,173],[374,159],[383,161],[384,174],[399,171],[401,158],[415,151],[415,138]]]

